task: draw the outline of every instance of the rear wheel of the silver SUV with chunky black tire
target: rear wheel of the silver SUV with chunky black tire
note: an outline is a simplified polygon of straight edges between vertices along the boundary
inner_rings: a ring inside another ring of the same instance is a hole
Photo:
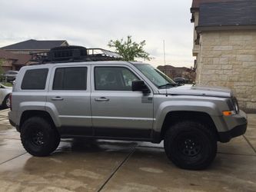
[[[22,145],[29,154],[44,157],[58,147],[60,136],[45,118],[28,118],[21,127]]]

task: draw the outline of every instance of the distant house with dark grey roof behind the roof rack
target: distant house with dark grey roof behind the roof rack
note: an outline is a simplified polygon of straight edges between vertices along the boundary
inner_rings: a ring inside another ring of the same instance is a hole
[[[13,45],[2,47],[2,50],[10,51],[15,54],[30,54],[35,52],[49,51],[58,46],[68,46],[65,40],[35,40],[22,41]]]

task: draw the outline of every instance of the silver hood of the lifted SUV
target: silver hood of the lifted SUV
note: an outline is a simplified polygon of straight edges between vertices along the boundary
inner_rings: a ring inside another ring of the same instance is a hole
[[[195,95],[195,96],[210,96],[218,98],[231,98],[233,96],[232,91],[228,88],[222,87],[210,87],[186,84],[183,86],[159,89],[160,94],[180,94],[180,95]]]

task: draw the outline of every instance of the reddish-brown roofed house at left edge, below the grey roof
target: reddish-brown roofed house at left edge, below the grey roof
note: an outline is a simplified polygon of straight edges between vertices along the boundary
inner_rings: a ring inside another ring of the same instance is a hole
[[[13,54],[0,49],[0,61],[4,71],[18,71],[22,66],[29,65],[31,55],[28,54]]]

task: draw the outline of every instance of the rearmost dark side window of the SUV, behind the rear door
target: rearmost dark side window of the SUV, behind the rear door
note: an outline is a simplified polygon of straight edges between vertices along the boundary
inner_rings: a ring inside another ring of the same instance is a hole
[[[25,71],[22,89],[44,90],[48,68],[30,69]]]

